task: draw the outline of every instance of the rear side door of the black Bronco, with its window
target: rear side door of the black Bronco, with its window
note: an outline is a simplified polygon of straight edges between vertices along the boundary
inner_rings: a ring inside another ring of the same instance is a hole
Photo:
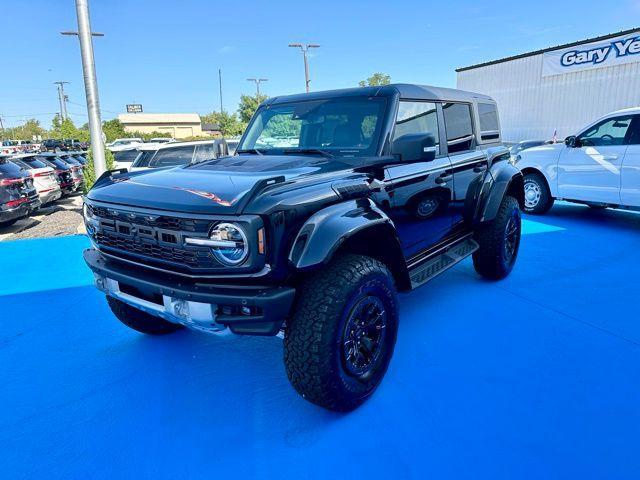
[[[489,163],[486,154],[477,148],[471,104],[444,103],[442,113],[453,174],[452,215],[453,222],[456,224],[464,218],[464,205],[468,192],[482,181]],[[494,129],[490,130],[493,135]]]

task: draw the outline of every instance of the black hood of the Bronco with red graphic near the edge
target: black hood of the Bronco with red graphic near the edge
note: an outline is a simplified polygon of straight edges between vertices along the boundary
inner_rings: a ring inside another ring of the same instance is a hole
[[[293,155],[240,155],[185,167],[114,175],[97,182],[90,200],[186,213],[241,213],[252,189],[268,179],[351,168],[337,159]]]

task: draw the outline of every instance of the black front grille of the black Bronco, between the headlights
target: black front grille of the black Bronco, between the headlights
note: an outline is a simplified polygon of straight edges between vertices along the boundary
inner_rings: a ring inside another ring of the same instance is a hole
[[[213,222],[89,206],[99,219],[93,238],[106,253],[176,271],[223,267],[208,247],[187,245],[186,236],[206,236]]]

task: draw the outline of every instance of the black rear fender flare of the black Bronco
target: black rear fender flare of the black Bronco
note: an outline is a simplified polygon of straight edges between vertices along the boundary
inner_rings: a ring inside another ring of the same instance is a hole
[[[524,209],[524,176],[518,168],[506,161],[491,165],[478,196],[474,223],[489,222],[496,218],[505,195],[512,195]]]

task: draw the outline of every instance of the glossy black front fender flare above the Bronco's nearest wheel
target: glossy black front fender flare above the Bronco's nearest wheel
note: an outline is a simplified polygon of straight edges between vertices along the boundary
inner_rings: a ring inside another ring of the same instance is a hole
[[[297,270],[326,264],[350,237],[385,225],[395,231],[393,221],[369,198],[330,205],[311,215],[302,225],[289,251],[289,263]],[[396,245],[389,248],[400,248],[397,237],[393,240]]]

